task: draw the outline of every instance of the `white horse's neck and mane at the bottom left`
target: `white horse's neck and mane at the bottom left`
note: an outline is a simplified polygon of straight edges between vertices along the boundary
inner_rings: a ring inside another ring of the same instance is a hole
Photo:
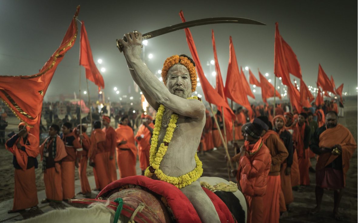
[[[21,223],[112,223],[115,212],[106,208],[105,204],[95,204],[91,208],[66,208],[53,210],[34,218],[29,218]],[[121,219],[118,223],[122,222]]]

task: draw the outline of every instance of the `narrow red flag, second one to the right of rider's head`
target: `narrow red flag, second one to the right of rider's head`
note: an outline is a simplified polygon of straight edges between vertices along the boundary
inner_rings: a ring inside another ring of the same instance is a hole
[[[216,90],[218,91],[219,95],[221,95],[221,97],[224,98],[224,100],[228,104],[227,98],[225,97],[225,94],[224,94],[224,83],[223,83],[223,79],[221,77],[218,56],[216,54],[214,30],[211,30],[211,39],[212,39],[212,43],[213,43],[215,71],[216,71]],[[218,106],[219,111],[221,111],[221,108],[222,108],[221,106]],[[231,116],[231,112],[227,108],[224,108],[223,110],[224,110],[224,118],[225,118],[225,127],[226,127],[226,129],[231,130],[232,129],[232,118],[234,118],[234,117]],[[231,134],[231,133],[227,132],[227,134]]]

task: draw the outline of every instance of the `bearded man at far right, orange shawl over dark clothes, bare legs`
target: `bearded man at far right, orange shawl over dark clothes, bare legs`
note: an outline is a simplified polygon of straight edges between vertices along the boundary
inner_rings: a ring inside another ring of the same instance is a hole
[[[326,126],[318,128],[310,144],[310,149],[319,155],[316,164],[315,189],[317,206],[311,210],[311,213],[320,211],[323,189],[333,189],[334,218],[344,221],[343,216],[338,214],[338,207],[345,187],[349,160],[357,148],[357,143],[349,130],[338,124],[336,112],[328,112],[325,118]]]

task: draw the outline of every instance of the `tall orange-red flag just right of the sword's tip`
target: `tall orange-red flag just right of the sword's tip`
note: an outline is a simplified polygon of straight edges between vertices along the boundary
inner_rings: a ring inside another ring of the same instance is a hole
[[[302,110],[300,93],[297,91],[297,88],[292,85],[290,81],[290,73],[301,79],[301,69],[291,47],[289,47],[289,45],[282,39],[279,31],[279,24],[277,22],[274,49],[274,73],[276,77],[281,77],[282,83],[287,86],[292,106],[295,106],[297,112],[300,113]]]

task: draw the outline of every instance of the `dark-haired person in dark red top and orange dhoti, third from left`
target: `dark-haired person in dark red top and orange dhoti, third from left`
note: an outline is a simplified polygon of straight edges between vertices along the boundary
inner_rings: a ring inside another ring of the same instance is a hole
[[[63,199],[67,200],[74,198],[74,167],[79,167],[83,149],[72,131],[71,123],[63,123],[61,138],[67,153],[61,162],[62,193]]]

